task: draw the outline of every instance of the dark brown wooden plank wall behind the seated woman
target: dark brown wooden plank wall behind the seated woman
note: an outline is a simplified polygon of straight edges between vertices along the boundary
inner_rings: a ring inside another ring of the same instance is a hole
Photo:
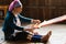
[[[9,4],[12,0],[0,0],[0,4]],[[66,0],[21,0],[25,16],[50,20],[66,14]]]

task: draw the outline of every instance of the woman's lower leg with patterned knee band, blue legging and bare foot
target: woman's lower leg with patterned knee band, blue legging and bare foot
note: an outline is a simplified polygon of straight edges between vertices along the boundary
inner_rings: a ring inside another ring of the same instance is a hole
[[[46,35],[28,35],[28,38],[32,42],[47,42],[52,31],[50,31]]]

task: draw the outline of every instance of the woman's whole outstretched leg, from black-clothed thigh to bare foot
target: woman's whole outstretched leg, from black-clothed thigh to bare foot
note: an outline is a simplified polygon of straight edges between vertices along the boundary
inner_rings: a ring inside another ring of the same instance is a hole
[[[50,31],[46,35],[32,35],[32,34],[29,34],[26,32],[21,32],[21,33],[18,33],[15,38],[16,40],[29,40],[31,42],[47,42],[50,36],[52,34],[52,31]]]

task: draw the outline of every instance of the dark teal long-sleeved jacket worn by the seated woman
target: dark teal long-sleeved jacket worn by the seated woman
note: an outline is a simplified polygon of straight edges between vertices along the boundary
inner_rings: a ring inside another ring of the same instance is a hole
[[[20,18],[20,21],[24,21],[24,22],[31,22],[31,20],[32,20],[32,19],[24,18],[21,15],[19,15],[19,18]],[[24,29],[23,26],[15,25],[13,21],[16,22],[15,16],[13,15],[12,12],[8,11],[7,16],[4,19],[2,31],[6,33],[9,33],[9,35],[13,34],[14,30],[23,31],[23,29]]]

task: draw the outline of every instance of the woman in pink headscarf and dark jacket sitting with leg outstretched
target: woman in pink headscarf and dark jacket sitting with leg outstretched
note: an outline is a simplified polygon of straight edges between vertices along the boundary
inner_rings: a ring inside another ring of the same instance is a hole
[[[47,42],[52,34],[52,31],[50,31],[46,35],[30,34],[26,31],[33,31],[33,29],[25,29],[21,26],[21,22],[23,21],[29,23],[41,22],[40,20],[29,19],[20,15],[22,8],[22,3],[19,0],[11,2],[2,29],[6,41],[29,40],[31,42]],[[15,30],[21,32],[14,33]]]

